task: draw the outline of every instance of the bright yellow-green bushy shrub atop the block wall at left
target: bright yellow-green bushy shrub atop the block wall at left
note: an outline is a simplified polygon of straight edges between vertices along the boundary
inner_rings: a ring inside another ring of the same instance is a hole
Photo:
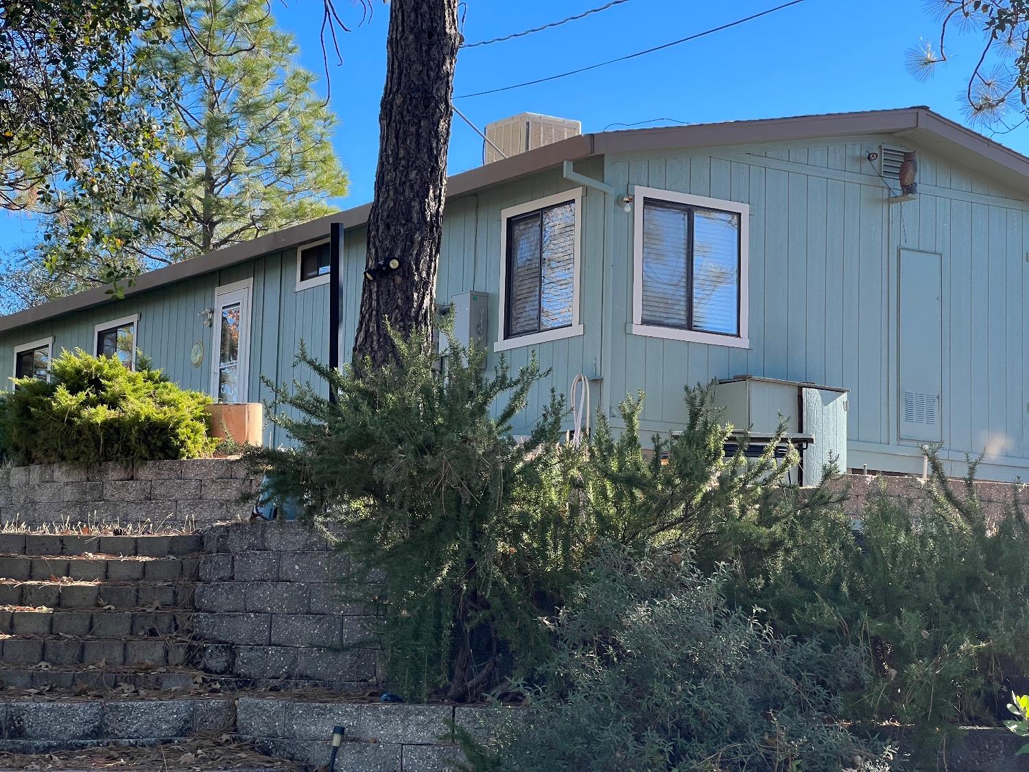
[[[161,371],[126,367],[116,357],[63,352],[50,380],[22,379],[6,398],[6,431],[16,463],[126,464],[210,455],[205,406]]]

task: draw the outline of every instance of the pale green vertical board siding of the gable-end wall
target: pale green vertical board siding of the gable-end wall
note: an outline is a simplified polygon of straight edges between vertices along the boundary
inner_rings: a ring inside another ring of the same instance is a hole
[[[900,247],[938,252],[944,450],[956,471],[962,454],[985,450],[987,473],[1024,475],[1029,207],[925,148],[916,148],[923,191],[890,204],[890,191],[866,159],[883,142],[888,138],[806,149],[794,143],[663,157],[609,155],[605,176],[615,189],[664,187],[751,207],[747,350],[625,331],[632,313],[632,222],[614,210],[610,259],[622,281],[608,286],[610,403],[645,390],[657,405],[648,400],[644,428],[680,428],[685,385],[748,373],[842,386],[851,390],[846,419],[852,445],[917,456],[917,443],[897,436],[897,259]],[[617,425],[615,411],[609,413]],[[990,467],[1004,458],[1009,466]]]

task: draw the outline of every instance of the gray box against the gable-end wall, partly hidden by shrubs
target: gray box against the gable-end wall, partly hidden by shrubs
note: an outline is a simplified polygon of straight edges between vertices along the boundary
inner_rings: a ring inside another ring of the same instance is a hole
[[[735,434],[749,430],[755,450],[768,445],[780,416],[786,419],[786,437],[801,450],[799,482],[817,485],[831,457],[847,470],[847,394],[836,386],[737,376],[718,382],[714,402]]]

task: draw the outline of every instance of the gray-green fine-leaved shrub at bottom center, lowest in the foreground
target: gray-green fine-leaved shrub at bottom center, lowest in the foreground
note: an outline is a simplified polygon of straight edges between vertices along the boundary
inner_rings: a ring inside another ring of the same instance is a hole
[[[889,769],[835,696],[866,677],[860,651],[776,637],[726,604],[730,582],[670,550],[604,551],[557,622],[548,686],[524,720],[492,748],[459,732],[467,769]]]

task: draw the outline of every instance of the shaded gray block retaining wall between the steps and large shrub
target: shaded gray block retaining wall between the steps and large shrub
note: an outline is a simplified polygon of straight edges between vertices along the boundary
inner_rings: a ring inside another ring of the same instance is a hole
[[[336,691],[377,677],[364,609],[338,595],[347,557],[296,523],[262,521],[204,531],[193,630],[203,668],[258,685]]]

